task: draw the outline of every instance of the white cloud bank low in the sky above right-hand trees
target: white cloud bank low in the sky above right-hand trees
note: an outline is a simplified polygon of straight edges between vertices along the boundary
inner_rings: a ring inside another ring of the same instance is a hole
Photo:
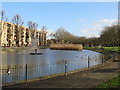
[[[84,21],[84,20],[83,20]],[[83,22],[81,20],[81,22]],[[100,37],[98,32],[101,32],[104,30],[105,26],[112,26],[117,24],[117,19],[101,19],[97,20],[93,24],[90,24],[90,27],[87,27],[85,25],[85,28],[82,29],[81,33],[88,38],[91,37]]]

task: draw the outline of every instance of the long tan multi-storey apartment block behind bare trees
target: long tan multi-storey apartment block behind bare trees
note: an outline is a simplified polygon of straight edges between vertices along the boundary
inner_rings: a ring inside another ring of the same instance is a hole
[[[31,29],[13,23],[0,21],[1,46],[31,46]],[[46,32],[36,30],[37,45],[46,45]]]

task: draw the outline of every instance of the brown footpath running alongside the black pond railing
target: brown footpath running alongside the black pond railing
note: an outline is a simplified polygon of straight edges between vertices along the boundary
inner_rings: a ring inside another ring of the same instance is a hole
[[[5,88],[95,88],[96,86],[120,75],[120,62],[110,61],[104,66],[38,80],[26,84],[12,85]]]

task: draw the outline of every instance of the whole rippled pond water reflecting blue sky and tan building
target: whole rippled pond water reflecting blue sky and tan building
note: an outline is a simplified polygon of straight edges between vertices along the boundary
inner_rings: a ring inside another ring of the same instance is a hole
[[[25,80],[26,75],[27,79],[31,79],[86,68],[88,67],[88,57],[89,66],[101,64],[103,56],[101,53],[90,50],[39,49],[38,52],[42,52],[42,55],[30,55],[31,52],[34,50],[1,52],[2,65],[9,65],[10,71],[8,73],[8,67],[2,69],[2,83],[18,83],[20,80]]]

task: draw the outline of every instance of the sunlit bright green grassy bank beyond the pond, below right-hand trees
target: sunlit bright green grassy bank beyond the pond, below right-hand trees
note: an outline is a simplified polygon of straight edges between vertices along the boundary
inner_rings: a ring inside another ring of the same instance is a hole
[[[84,47],[84,49],[97,52],[120,52],[120,47]]]

